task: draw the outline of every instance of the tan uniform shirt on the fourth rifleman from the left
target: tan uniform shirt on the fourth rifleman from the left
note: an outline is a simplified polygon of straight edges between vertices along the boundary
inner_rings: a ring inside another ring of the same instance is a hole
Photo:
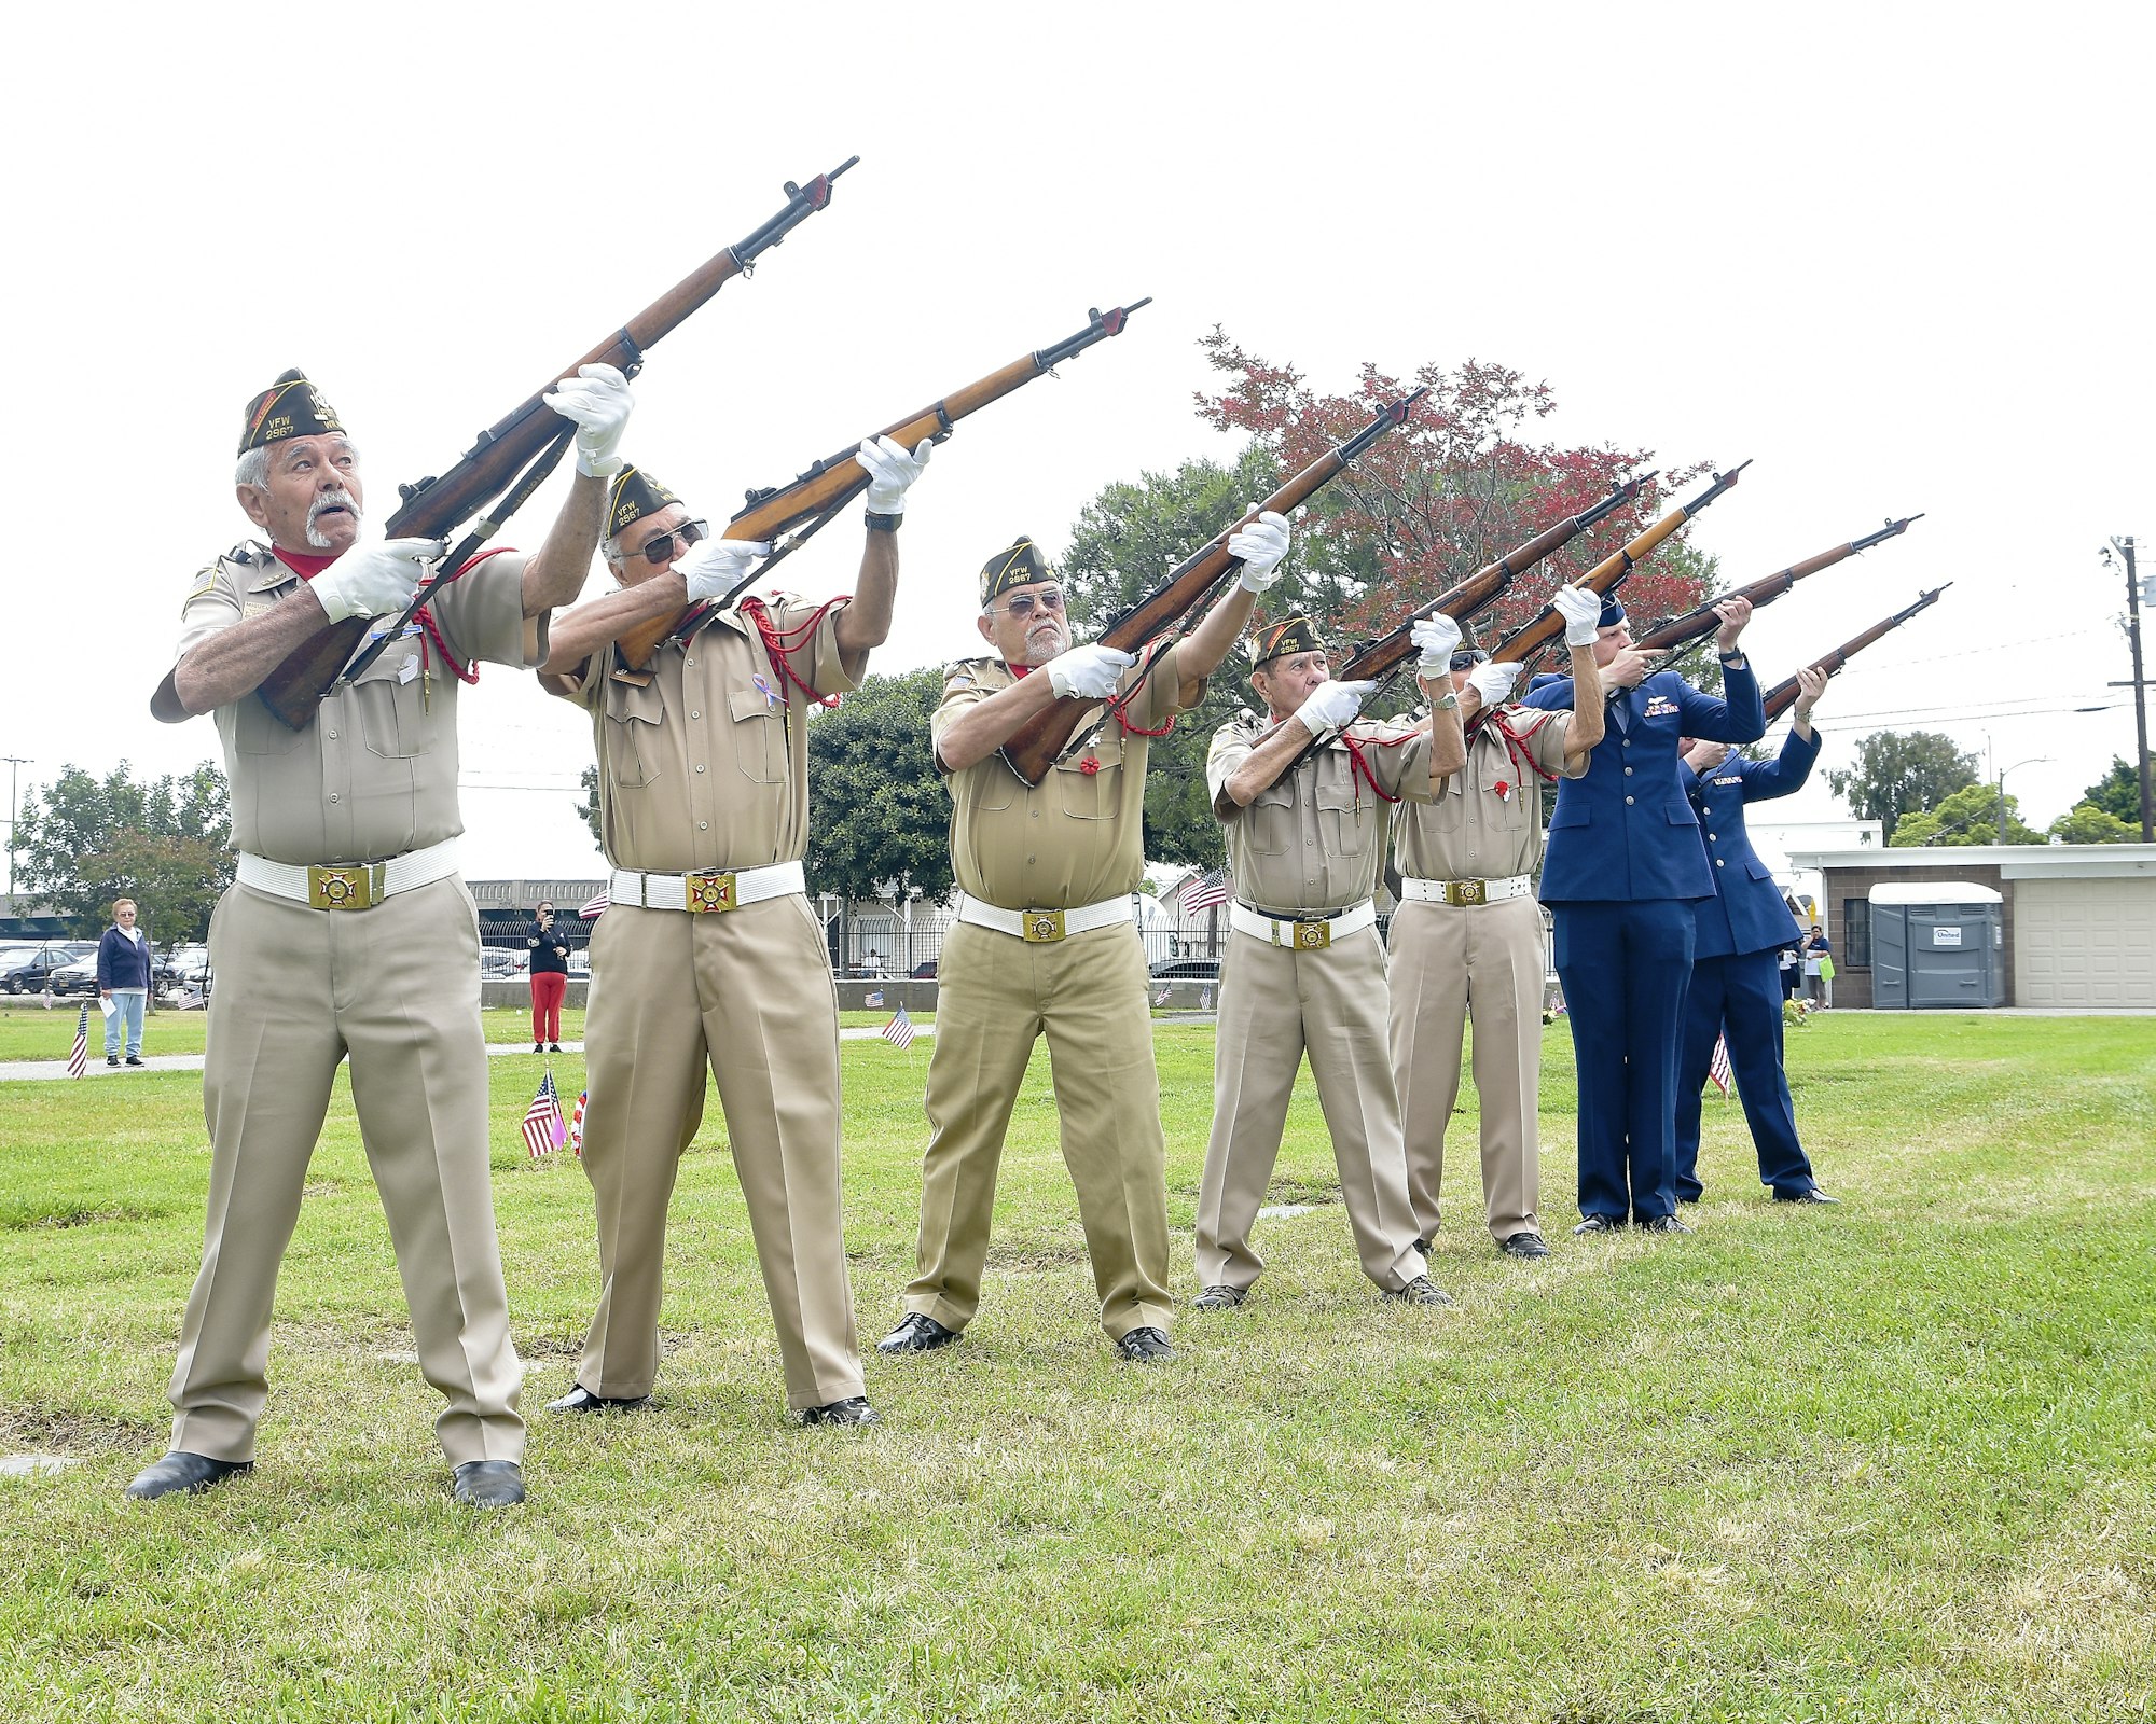
[[[1238,713],[1214,731],[1205,789],[1227,830],[1235,896],[1257,909],[1348,909],[1378,890],[1393,804],[1429,795],[1429,726],[1358,720],[1350,724],[1378,795],[1356,769],[1343,737],[1283,771],[1246,808],[1222,795],[1227,780],[1268,735],[1272,720]],[[1296,726],[1298,731],[1302,726]]]

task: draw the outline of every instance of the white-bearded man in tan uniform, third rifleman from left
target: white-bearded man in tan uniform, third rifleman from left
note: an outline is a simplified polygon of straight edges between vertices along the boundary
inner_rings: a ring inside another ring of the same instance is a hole
[[[1173,1358],[1160,1078],[1130,899],[1151,737],[1205,694],[1287,556],[1287,522],[1257,517],[1229,552],[1244,560],[1235,590],[1143,662],[1069,644],[1063,588],[1031,539],[981,569],[996,657],[955,666],[931,722],[962,892],[938,968],[921,1248],[884,1353],[946,1347],[979,1310],[1003,1136],[1046,1032],[1102,1327],[1123,1358]],[[1106,705],[1026,784],[996,750],[1056,698]]]

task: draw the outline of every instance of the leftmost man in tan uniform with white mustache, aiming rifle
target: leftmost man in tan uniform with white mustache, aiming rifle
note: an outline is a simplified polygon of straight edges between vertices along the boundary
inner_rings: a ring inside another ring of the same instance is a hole
[[[457,875],[457,696],[479,659],[539,664],[548,612],[576,597],[599,541],[627,386],[586,366],[548,401],[578,422],[580,476],[541,552],[466,565],[298,731],[254,690],[323,618],[401,612],[442,545],[358,543],[358,455],[306,377],[285,373],[248,409],[239,506],[270,543],[196,578],[179,662],[151,703],[166,722],[216,713],[239,881],[209,924],[209,1228],[172,1366],[172,1452],[129,1496],[254,1465],[276,1274],[349,1056],[420,1371],[448,1401],[436,1435],[455,1496],[524,1498],[522,1371],[487,1185],[479,912]]]

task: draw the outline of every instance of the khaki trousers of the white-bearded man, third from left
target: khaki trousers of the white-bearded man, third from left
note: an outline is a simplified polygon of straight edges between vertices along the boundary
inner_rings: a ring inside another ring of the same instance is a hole
[[[1100,1323],[1117,1340],[1166,1330],[1166,1146],[1136,931],[1125,922],[1035,946],[959,922],[938,978],[921,1250],[906,1310],[964,1330],[981,1308],[1003,1136],[1046,1032]]]

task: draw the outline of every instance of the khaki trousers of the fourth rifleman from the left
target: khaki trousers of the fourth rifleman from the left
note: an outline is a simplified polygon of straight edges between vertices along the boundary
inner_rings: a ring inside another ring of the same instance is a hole
[[[1384,996],[1376,929],[1322,953],[1272,946],[1240,929],[1229,935],[1214,1043],[1214,1125],[1199,1185],[1201,1284],[1250,1287],[1266,1269],[1250,1248],[1250,1226],[1281,1155],[1304,1054],[1332,1134],[1363,1274],[1391,1291],[1425,1274],[1414,1250]]]

